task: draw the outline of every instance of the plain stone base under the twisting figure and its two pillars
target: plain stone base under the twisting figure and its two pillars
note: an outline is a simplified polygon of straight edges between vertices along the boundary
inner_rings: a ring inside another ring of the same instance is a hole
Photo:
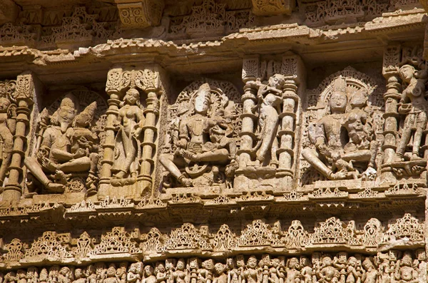
[[[268,190],[272,192],[288,192],[292,188],[292,177],[278,174],[272,167],[247,167],[236,170],[233,182],[234,192],[253,192]]]

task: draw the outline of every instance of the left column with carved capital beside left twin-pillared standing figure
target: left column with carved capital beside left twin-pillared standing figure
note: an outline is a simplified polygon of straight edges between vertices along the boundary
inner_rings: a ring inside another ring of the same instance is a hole
[[[121,103],[121,77],[123,70],[121,68],[113,68],[108,71],[106,92],[110,99],[108,99],[108,110],[106,120],[106,139],[103,143],[104,156],[101,161],[101,178],[100,185],[108,184],[111,177],[111,166],[113,165],[113,151],[114,151],[114,121],[118,118],[119,104]]]

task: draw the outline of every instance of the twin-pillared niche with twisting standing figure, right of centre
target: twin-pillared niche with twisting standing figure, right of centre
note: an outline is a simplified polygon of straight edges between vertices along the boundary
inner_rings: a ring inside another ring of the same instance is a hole
[[[299,56],[282,61],[248,58],[243,63],[243,130],[236,191],[290,190],[295,171],[295,133],[300,131],[297,95],[303,78]]]

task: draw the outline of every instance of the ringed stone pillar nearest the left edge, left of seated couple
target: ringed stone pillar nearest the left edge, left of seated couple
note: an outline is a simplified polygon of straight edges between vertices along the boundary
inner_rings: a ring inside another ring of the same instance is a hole
[[[9,166],[9,181],[3,193],[3,200],[6,202],[18,202],[22,194],[24,146],[27,143],[31,106],[34,103],[35,81],[32,73],[22,73],[16,78],[16,132]]]

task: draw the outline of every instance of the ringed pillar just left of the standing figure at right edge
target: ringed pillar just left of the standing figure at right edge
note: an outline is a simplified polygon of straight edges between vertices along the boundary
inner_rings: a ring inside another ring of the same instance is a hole
[[[392,174],[392,168],[388,163],[392,162],[397,149],[397,130],[399,123],[398,102],[400,99],[399,83],[399,62],[401,59],[400,46],[387,46],[384,49],[384,61],[382,74],[387,80],[387,91],[384,93],[385,113],[384,113],[384,144],[382,179],[384,181],[394,181],[395,177]]]

